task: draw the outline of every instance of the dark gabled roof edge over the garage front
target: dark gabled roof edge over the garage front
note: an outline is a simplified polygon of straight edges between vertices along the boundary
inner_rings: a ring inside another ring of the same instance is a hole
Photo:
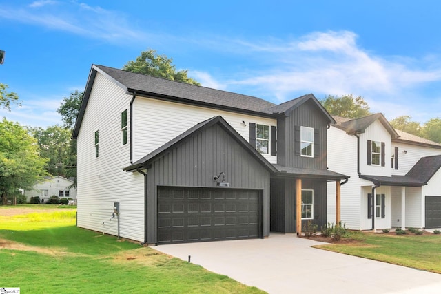
[[[220,127],[222,127],[229,136],[232,136],[234,140],[236,140],[237,143],[239,143],[246,151],[249,152],[258,162],[260,162],[263,167],[268,169],[269,171],[276,172],[276,168],[271,165],[256,149],[252,147],[252,145],[249,145],[247,140],[245,140],[236,130],[231,127],[223,118],[222,116],[215,116],[213,118],[209,118],[208,120],[203,121],[202,123],[198,123],[197,125],[194,125],[194,127],[191,127],[190,129],[187,129],[187,131],[183,132],[182,134],[176,136],[169,142],[165,143],[161,147],[158,147],[154,151],[150,152],[150,154],[147,154],[143,158],[137,160],[132,165],[125,167],[123,170],[125,171],[134,171],[136,169],[144,169],[150,165],[151,162],[154,160],[157,160],[158,158],[161,158],[165,154],[170,151],[170,149],[177,147],[178,145],[181,145],[185,142],[187,138],[190,136],[193,136],[194,134],[197,134],[198,132],[203,132],[204,129],[211,127],[212,125],[218,124]]]

